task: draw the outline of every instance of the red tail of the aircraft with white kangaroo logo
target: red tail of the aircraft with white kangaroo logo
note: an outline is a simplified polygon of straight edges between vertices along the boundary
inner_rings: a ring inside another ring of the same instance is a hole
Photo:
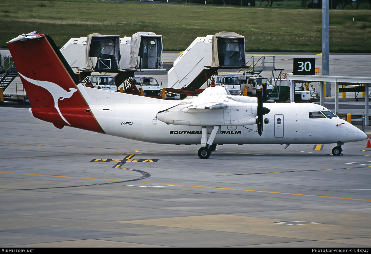
[[[19,36],[8,47],[36,118],[104,133],[76,87],[79,80],[49,35]]]

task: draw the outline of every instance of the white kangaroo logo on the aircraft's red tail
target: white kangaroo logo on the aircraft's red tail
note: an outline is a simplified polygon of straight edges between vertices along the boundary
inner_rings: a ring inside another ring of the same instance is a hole
[[[41,81],[41,80],[34,80],[27,78],[26,76],[23,76],[22,74],[19,74],[22,76],[22,78],[26,79],[28,82],[35,84],[39,87],[45,88],[50,94],[53,96],[54,100],[54,107],[57,109],[60,117],[62,117],[63,121],[65,121],[68,125],[69,122],[63,117],[62,113],[60,113],[59,106],[58,106],[58,100],[63,100],[65,98],[71,98],[73,93],[77,91],[76,88],[69,88],[69,92],[67,92],[65,89],[60,87],[59,85],[49,82],[49,81]]]

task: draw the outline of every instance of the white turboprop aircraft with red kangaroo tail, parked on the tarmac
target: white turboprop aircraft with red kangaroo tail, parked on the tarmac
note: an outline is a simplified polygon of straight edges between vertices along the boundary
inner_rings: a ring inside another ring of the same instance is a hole
[[[127,139],[162,144],[200,144],[207,159],[217,144],[336,143],[366,134],[310,103],[266,103],[210,87],[198,97],[167,101],[84,87],[53,40],[44,34],[19,36],[9,50],[34,117],[57,128],[71,126]],[[263,128],[264,126],[264,128]]]

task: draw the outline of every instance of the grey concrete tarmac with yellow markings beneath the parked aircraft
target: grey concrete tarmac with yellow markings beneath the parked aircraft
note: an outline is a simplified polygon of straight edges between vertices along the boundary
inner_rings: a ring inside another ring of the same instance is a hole
[[[200,145],[59,130],[27,108],[0,107],[0,126],[0,247],[370,247],[366,140],[201,160]]]

